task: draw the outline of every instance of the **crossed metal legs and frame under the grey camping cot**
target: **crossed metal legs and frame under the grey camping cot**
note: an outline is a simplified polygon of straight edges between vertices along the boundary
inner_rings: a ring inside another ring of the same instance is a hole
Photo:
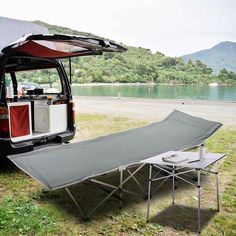
[[[102,189],[108,193],[108,195],[102,199],[94,208],[92,208],[88,213],[84,211],[82,208],[80,202],[75,198],[69,187],[65,187],[65,191],[70,196],[71,200],[75,204],[76,208],[78,209],[78,212],[80,213],[80,216],[83,220],[87,221],[89,220],[89,217],[101,206],[103,205],[109,198],[112,196],[119,199],[119,208],[121,209],[123,206],[123,193],[128,193],[135,195],[137,197],[146,198],[147,199],[147,192],[144,190],[138,179],[135,177],[135,175],[145,166],[145,163],[138,164],[138,167],[131,171],[131,168],[134,168],[134,165],[132,166],[120,166],[119,171],[119,185],[113,185],[110,183],[103,182],[101,180],[97,180],[95,178],[88,179],[89,182],[95,183],[98,186],[101,186]],[[124,171],[127,172],[128,176],[124,178]],[[139,187],[142,193],[133,192],[131,190],[125,189],[124,184],[127,183],[130,179],[133,179],[136,185]],[[119,195],[115,195],[116,193],[119,193]]]

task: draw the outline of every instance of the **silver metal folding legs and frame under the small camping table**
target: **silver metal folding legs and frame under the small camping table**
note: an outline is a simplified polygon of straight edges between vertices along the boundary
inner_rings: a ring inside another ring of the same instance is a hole
[[[212,167],[215,165],[215,171],[212,171]],[[153,168],[159,169],[160,171],[164,171],[167,173],[167,176],[162,177],[156,177],[157,174],[153,175]],[[197,172],[197,184],[193,181],[189,181],[186,177],[186,174],[190,172]],[[155,181],[162,180],[161,184],[164,184],[164,182],[172,178],[172,204],[175,204],[175,180],[179,179],[182,180],[194,187],[197,187],[197,202],[198,202],[198,209],[197,209],[197,215],[198,215],[198,232],[201,232],[201,172],[206,172],[208,174],[214,174],[216,178],[216,202],[217,202],[217,211],[220,210],[220,198],[219,198],[219,171],[218,171],[218,160],[211,165],[209,165],[206,169],[187,169],[185,167],[178,167],[174,165],[167,165],[167,166],[161,166],[159,164],[149,164],[149,180],[148,180],[148,201],[147,201],[147,222],[150,220],[150,202],[151,202],[151,194],[154,192],[152,191],[152,183]],[[180,175],[183,175],[185,177],[181,177]],[[158,185],[157,187],[159,187]],[[156,189],[154,189],[156,190]]]

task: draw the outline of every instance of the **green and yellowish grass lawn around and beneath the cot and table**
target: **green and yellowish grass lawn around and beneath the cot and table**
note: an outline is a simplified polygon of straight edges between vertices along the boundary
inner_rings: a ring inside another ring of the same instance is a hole
[[[124,117],[80,114],[74,141],[90,139],[147,124]],[[204,176],[202,235],[236,235],[236,127],[221,128],[207,141],[211,152],[227,153],[220,162],[220,212],[215,202],[215,178]],[[88,222],[80,219],[64,190],[44,192],[40,184],[10,163],[0,167],[0,235],[195,235],[196,189],[178,182],[176,205],[171,205],[171,181],[152,197],[151,222],[146,223],[146,201],[125,196],[124,208],[111,198]],[[116,182],[117,173],[102,177]],[[147,170],[137,178],[144,184]],[[128,188],[135,188],[132,181]],[[88,209],[105,193],[92,184],[72,187]]]

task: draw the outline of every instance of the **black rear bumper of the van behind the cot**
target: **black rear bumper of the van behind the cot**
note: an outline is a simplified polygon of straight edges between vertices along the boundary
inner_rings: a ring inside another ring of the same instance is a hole
[[[34,149],[43,148],[45,146],[54,146],[55,144],[66,143],[72,140],[74,136],[75,129],[65,133],[27,140],[19,143],[12,143],[10,138],[0,138],[0,157],[2,158],[12,154],[30,152]]]

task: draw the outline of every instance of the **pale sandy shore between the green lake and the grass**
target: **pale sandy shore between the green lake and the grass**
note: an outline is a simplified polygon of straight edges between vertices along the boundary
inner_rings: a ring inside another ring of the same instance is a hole
[[[154,122],[176,109],[225,126],[236,126],[236,102],[87,96],[74,96],[74,101],[79,113],[111,114]]]

